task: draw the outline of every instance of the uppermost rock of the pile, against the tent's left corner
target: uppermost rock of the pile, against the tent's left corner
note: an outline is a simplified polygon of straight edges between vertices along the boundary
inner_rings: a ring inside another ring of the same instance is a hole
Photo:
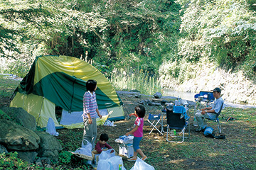
[[[19,125],[30,130],[36,130],[36,118],[33,115],[27,113],[23,108],[1,108],[4,113],[9,115]]]

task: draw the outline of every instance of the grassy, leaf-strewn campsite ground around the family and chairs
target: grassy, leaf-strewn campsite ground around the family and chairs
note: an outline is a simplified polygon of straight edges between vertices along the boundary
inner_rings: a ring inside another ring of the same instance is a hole
[[[1,80],[1,87],[6,90],[6,94],[1,95],[1,106],[9,103],[11,91],[14,91],[17,82],[13,80]],[[12,86],[10,87],[10,85]],[[8,87],[8,88],[7,88]],[[9,92],[8,92],[9,91]],[[7,93],[8,92],[8,93]],[[151,100],[153,96],[143,96],[137,98],[133,93],[119,94],[124,103],[124,113],[132,113],[134,106],[137,106],[142,99]],[[225,108],[220,124],[225,135],[225,140],[217,140],[204,137],[203,133],[195,132],[191,126],[191,136],[182,144],[166,142],[166,135],[160,135],[154,130],[151,135],[151,128],[146,122],[149,113],[159,113],[161,108],[156,106],[145,106],[146,116],[144,120],[144,139],[142,149],[149,157],[146,163],[154,166],[155,169],[255,169],[255,108]],[[225,118],[232,116],[235,120],[226,121]],[[191,119],[193,120],[193,119]],[[114,123],[116,127],[98,126],[98,135],[107,132],[110,135],[109,144],[118,152],[118,145],[114,140],[120,135],[124,135],[127,129],[132,128],[134,118],[119,120]],[[210,123],[216,130],[215,123]],[[68,151],[75,151],[81,145],[82,128],[59,129],[58,141],[63,147],[60,153],[59,162],[50,164],[50,169],[92,169],[78,159],[68,155]],[[64,154],[66,153],[66,154]],[[68,159],[71,157],[72,159]],[[6,157],[8,159],[8,157]],[[127,162],[124,158],[124,167],[131,169],[134,162]],[[18,159],[14,164],[19,164]],[[34,166],[36,169],[36,166]],[[39,167],[38,167],[39,169]]]

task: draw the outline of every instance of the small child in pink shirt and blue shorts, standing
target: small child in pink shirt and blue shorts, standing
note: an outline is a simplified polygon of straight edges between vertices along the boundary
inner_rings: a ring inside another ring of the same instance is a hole
[[[143,125],[144,125],[144,115],[146,114],[146,110],[144,106],[136,106],[134,113],[137,115],[137,118],[134,123],[134,128],[132,131],[127,132],[125,135],[129,136],[131,134],[134,135],[133,147],[134,147],[134,156],[131,159],[128,159],[129,162],[135,162],[137,160],[137,154],[139,153],[142,157],[142,160],[146,160],[147,157],[142,152],[142,149],[139,148],[139,142],[141,142],[143,137]]]

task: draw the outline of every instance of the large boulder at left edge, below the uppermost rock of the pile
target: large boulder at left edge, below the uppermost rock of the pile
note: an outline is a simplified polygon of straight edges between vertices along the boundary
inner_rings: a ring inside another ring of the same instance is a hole
[[[0,119],[0,129],[0,143],[8,150],[30,151],[39,147],[40,137],[32,130],[5,119]]]

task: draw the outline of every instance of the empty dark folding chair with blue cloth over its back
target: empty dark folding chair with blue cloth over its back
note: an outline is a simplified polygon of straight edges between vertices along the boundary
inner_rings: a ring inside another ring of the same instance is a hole
[[[166,115],[167,115],[166,140],[168,142],[182,143],[185,138],[188,138],[190,136],[190,125],[188,122],[190,117],[184,116],[185,114],[186,114],[186,108],[184,108],[183,106],[167,107],[166,109]],[[188,126],[188,136],[185,137],[185,130],[187,126]],[[176,132],[176,130],[181,130],[181,132]],[[171,137],[182,137],[182,141],[180,142],[180,141],[168,140],[169,135]]]

